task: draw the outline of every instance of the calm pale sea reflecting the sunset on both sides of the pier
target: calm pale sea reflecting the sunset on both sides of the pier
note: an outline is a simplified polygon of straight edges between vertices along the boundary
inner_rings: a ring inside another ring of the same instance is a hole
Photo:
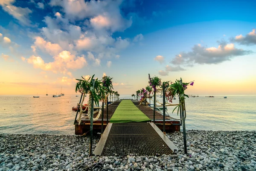
[[[0,96],[0,133],[74,134],[76,112],[72,107],[80,97],[39,96]],[[131,99],[131,96],[120,98]],[[172,109],[168,107],[168,113],[178,118]],[[256,130],[256,96],[191,97],[186,99],[186,111],[186,129]]]

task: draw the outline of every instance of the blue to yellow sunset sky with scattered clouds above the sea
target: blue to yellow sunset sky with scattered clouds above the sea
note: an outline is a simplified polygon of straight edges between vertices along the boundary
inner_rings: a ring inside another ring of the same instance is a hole
[[[256,1],[0,0],[0,95],[75,94],[113,78],[135,94],[148,74],[187,94],[256,94]]]

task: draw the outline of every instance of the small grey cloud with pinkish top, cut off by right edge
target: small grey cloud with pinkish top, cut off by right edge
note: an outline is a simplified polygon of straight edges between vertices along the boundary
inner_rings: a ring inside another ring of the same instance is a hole
[[[256,45],[256,29],[253,29],[247,35],[237,35],[235,38],[231,38],[232,42],[236,42],[242,45]]]

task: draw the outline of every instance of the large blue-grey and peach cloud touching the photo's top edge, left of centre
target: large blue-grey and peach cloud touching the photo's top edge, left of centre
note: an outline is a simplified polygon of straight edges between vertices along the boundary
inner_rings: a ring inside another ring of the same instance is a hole
[[[91,0],[51,0],[51,6],[61,6],[69,20],[90,18],[90,24],[95,29],[109,29],[111,32],[124,31],[131,26],[132,20],[122,16],[119,6],[122,1]]]

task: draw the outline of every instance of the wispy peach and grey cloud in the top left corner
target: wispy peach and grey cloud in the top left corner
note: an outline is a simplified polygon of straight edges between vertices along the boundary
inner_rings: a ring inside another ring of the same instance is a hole
[[[19,20],[21,24],[30,26],[31,21],[29,20],[29,14],[32,13],[32,11],[29,8],[14,6],[12,5],[13,3],[15,3],[15,0],[0,0],[0,6],[3,7],[4,11]]]

